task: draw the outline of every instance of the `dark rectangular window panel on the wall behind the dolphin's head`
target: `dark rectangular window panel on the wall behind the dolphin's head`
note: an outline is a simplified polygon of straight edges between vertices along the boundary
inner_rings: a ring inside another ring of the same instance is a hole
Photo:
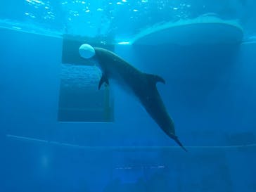
[[[60,122],[113,122],[113,98],[108,87],[98,90],[101,71],[89,60],[80,58],[78,49],[87,42],[113,50],[112,45],[95,39],[63,37],[63,56],[60,72],[58,121]]]

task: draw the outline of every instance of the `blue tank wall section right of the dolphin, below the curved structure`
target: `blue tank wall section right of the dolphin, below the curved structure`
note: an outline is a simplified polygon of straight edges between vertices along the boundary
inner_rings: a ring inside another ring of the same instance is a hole
[[[136,65],[158,83],[177,134],[189,145],[255,143],[256,44],[135,47]]]

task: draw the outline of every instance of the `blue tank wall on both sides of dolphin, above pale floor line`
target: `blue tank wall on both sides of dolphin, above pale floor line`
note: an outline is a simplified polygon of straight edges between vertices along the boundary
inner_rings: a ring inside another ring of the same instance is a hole
[[[57,122],[61,39],[11,30],[1,34],[0,110],[6,134],[85,146],[173,144],[136,98],[115,86],[115,123]],[[158,89],[187,146],[255,142],[255,44],[243,44],[232,57],[236,60],[188,50],[116,47],[136,67],[165,79]]]

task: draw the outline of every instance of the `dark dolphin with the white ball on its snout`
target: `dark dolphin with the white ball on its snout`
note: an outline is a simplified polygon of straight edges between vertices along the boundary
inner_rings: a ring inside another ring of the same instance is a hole
[[[156,87],[158,82],[165,84],[162,77],[141,72],[112,51],[89,44],[82,44],[79,47],[79,54],[82,58],[96,60],[101,68],[102,76],[98,89],[101,89],[103,83],[109,85],[109,79],[114,79],[122,87],[128,88],[136,98],[139,98],[140,103],[162,131],[186,151],[175,134],[174,122],[167,113]]]

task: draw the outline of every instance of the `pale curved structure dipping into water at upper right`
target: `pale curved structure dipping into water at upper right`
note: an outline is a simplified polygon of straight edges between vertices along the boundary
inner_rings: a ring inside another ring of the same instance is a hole
[[[243,29],[236,20],[222,20],[213,15],[202,15],[191,20],[164,23],[142,30],[131,44],[236,44],[243,40]]]

